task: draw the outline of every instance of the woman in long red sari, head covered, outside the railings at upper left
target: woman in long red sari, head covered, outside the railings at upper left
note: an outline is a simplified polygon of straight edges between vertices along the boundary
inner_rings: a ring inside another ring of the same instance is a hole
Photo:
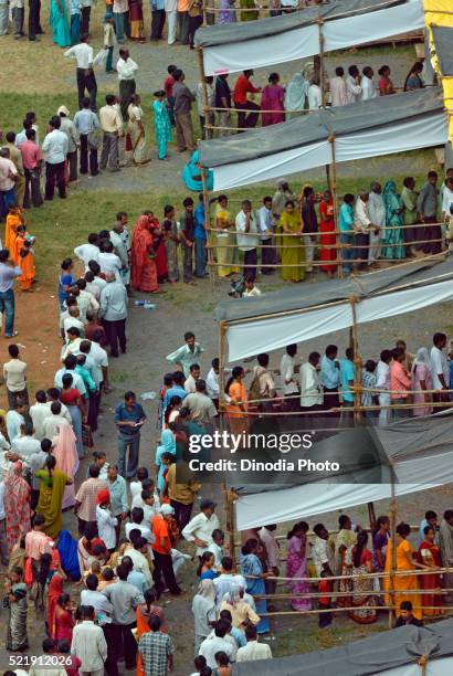
[[[154,237],[149,231],[148,215],[141,215],[134,229],[131,241],[131,283],[133,288],[155,294],[157,283],[156,253]]]

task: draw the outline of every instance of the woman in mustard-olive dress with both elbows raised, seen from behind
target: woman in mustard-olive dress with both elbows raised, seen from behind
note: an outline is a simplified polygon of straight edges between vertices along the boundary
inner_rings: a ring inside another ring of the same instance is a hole
[[[73,479],[64,472],[56,469],[56,458],[53,455],[48,456],[44,469],[35,472],[35,476],[41,479],[36,511],[45,519],[45,535],[56,538],[62,529],[64,490],[73,483]]]

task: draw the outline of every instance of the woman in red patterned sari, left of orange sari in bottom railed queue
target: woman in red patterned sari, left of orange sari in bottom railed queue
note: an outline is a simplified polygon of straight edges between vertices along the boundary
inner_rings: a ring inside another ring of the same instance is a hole
[[[376,610],[368,606],[376,605],[373,589],[375,579],[366,578],[367,573],[373,572],[372,554],[367,548],[368,534],[361,530],[357,536],[357,545],[352,547],[352,574],[364,575],[352,578],[352,600],[351,604],[356,609],[349,615],[359,624],[372,624],[376,622]]]

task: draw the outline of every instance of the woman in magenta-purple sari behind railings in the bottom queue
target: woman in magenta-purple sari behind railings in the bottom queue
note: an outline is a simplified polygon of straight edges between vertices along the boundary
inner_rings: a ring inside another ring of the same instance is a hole
[[[299,521],[286,536],[288,539],[287,578],[307,577],[307,532],[308,524]],[[306,594],[309,592],[308,582],[301,580],[289,582],[288,587],[294,594]],[[297,598],[296,595],[291,600],[291,606],[298,611],[312,610],[312,601],[308,598]]]

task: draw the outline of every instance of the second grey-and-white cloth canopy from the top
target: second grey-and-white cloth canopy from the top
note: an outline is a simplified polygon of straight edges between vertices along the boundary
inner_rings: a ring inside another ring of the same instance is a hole
[[[444,146],[447,120],[436,87],[314,110],[272,127],[199,144],[214,190],[276,179],[334,162]]]

